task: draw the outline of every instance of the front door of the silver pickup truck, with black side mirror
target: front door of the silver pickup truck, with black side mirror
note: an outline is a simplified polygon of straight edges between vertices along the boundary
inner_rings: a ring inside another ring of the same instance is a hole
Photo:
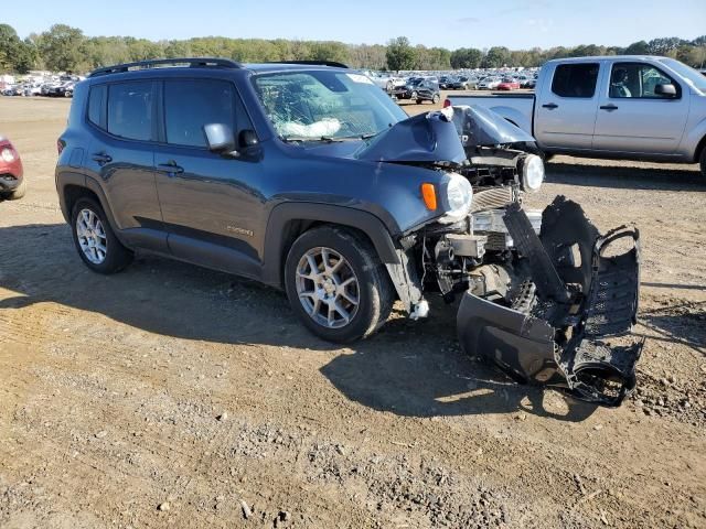
[[[655,94],[660,84],[676,97]],[[688,87],[644,62],[613,63],[602,82],[593,149],[610,152],[673,154],[688,116]]]

